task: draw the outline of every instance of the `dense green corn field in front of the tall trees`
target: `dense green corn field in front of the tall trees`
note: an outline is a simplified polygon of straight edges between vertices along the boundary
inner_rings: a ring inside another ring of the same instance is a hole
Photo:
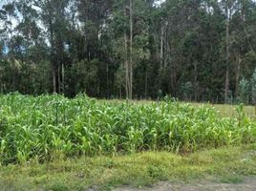
[[[209,106],[166,98],[135,104],[98,101],[84,95],[0,96],[0,162],[24,163],[65,157],[143,151],[189,153],[256,140],[256,121],[220,117]]]

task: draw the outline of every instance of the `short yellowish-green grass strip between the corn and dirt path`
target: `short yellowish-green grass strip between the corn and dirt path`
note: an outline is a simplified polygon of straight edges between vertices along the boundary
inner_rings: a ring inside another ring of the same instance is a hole
[[[160,180],[243,182],[256,176],[256,144],[204,150],[188,156],[145,152],[116,157],[55,159],[0,168],[1,190],[110,190],[151,186]]]

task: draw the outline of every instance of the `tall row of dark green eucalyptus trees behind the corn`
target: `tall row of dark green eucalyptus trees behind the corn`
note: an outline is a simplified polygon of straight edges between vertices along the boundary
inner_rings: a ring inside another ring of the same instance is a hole
[[[0,39],[2,93],[228,102],[256,68],[256,4],[7,1]]]

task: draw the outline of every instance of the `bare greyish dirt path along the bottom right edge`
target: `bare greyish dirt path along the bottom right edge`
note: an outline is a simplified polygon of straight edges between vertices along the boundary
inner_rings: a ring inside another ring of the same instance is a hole
[[[191,184],[160,182],[152,188],[118,188],[115,191],[256,191],[256,178],[245,179],[243,183],[229,184],[198,182]]]

